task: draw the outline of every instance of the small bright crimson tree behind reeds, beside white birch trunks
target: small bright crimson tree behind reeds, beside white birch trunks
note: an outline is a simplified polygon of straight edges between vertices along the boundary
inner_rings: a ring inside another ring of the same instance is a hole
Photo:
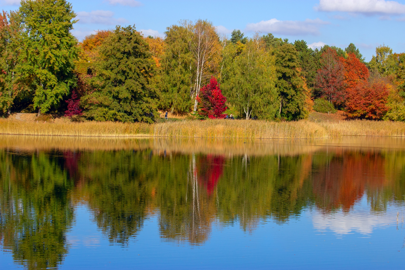
[[[211,119],[225,117],[226,98],[222,95],[220,84],[215,77],[211,77],[209,83],[201,87],[197,101],[200,107],[200,115]]]

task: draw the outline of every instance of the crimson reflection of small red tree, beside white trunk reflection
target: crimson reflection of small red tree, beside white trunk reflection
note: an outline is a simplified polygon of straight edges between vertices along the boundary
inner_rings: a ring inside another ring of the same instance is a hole
[[[212,194],[224,170],[225,159],[222,155],[206,155],[198,159],[198,181]]]

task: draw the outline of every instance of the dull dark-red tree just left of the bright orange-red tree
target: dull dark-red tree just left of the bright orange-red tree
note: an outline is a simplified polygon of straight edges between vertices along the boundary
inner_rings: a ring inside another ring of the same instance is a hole
[[[328,48],[321,57],[322,68],[315,77],[315,88],[319,94],[335,105],[342,104],[345,98],[345,70],[337,52]]]

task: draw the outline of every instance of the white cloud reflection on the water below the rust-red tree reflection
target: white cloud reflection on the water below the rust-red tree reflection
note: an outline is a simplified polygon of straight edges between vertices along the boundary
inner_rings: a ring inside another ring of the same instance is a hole
[[[337,234],[359,232],[371,234],[375,227],[396,224],[396,213],[399,208],[388,208],[386,212],[373,212],[369,205],[364,205],[362,200],[357,202],[350,211],[337,210],[332,213],[322,213],[314,210],[312,213],[313,226],[317,230],[331,230]]]

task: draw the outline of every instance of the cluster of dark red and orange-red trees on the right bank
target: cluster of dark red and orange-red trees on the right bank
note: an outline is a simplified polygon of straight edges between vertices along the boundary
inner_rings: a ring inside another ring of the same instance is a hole
[[[316,76],[320,96],[346,109],[347,117],[382,119],[388,111],[388,90],[381,81],[370,82],[369,70],[354,53],[338,57],[328,48],[321,58]]]

